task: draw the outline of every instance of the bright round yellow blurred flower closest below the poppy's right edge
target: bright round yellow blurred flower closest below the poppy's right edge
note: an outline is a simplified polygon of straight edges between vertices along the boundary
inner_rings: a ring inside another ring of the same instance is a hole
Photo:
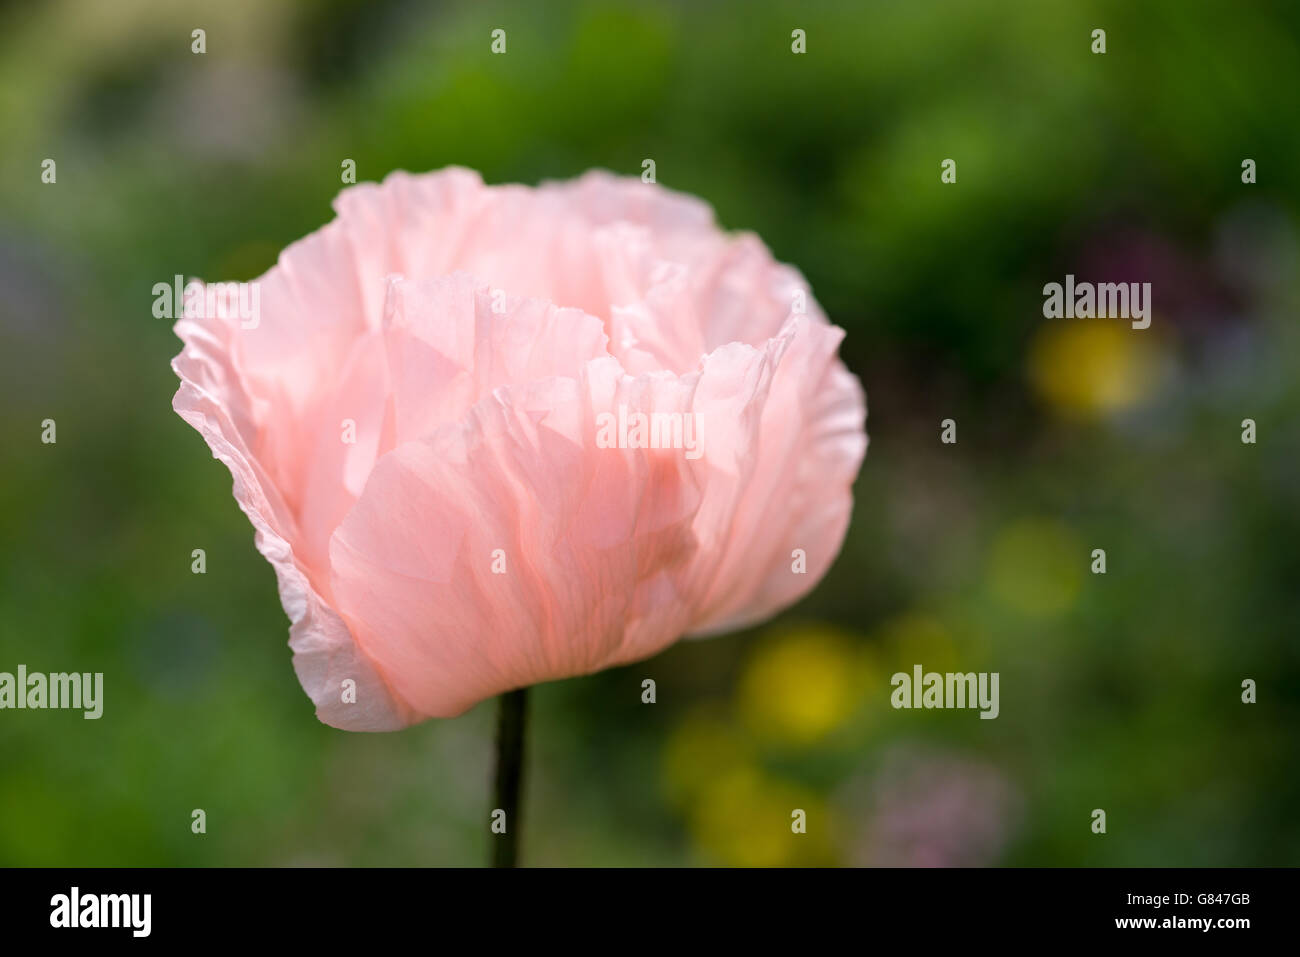
[[[767,741],[807,745],[842,724],[862,700],[855,642],[828,625],[803,625],[762,642],[737,687],[746,727]]]

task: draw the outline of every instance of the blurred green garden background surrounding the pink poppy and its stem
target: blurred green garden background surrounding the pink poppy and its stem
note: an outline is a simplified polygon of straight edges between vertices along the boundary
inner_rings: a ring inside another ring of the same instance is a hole
[[[1288,0],[0,5],[0,671],[105,675],[98,722],[0,713],[0,863],[486,861],[493,705],[316,722],[151,287],[256,277],[344,159],[646,157],[809,277],[871,450],[807,599],[534,690],[524,861],[1300,862],[1297,35]],[[1044,320],[1067,272],[1150,281],[1150,329]],[[1000,672],[1001,716],[892,710],[914,663]]]

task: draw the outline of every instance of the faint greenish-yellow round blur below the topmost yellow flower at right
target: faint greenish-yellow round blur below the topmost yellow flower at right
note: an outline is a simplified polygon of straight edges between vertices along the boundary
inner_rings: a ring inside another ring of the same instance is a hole
[[[1088,550],[1060,521],[1020,519],[993,542],[989,586],[1017,611],[1050,618],[1074,605],[1088,559]]]

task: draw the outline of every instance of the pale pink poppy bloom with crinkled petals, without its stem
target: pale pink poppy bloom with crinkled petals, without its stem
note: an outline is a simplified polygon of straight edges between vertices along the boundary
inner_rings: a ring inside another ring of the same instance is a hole
[[[187,303],[177,412],[234,476],[321,720],[389,731],[759,622],[833,560],[862,389],[803,278],[592,172],[346,190]]]

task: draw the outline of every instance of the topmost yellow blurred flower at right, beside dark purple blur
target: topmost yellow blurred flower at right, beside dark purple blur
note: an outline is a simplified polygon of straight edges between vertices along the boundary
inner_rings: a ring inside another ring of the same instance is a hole
[[[1035,390],[1061,415],[1100,419],[1145,399],[1162,350],[1149,330],[1113,319],[1044,322],[1030,348]]]

